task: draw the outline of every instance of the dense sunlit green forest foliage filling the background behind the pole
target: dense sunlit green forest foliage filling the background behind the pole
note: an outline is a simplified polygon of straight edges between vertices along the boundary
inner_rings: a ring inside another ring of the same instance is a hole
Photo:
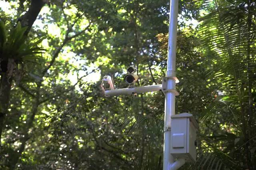
[[[103,97],[137,67],[166,72],[169,1],[0,0],[0,169],[162,169],[164,94]],[[255,10],[180,0],[176,114],[199,122],[195,163],[256,168]],[[200,23],[196,21],[201,21]]]

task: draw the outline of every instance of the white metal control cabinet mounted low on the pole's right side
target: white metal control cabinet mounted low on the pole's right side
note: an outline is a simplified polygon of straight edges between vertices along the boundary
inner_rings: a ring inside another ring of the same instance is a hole
[[[196,161],[196,131],[198,123],[190,113],[172,115],[171,154],[174,158]]]

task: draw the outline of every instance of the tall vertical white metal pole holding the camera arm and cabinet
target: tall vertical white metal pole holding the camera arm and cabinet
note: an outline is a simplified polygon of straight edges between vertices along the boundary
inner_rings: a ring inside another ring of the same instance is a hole
[[[166,76],[176,76],[176,41],[178,25],[178,0],[170,0],[170,23],[168,40],[168,59]],[[175,80],[167,79],[166,89],[175,89]],[[171,115],[175,114],[175,94],[166,92],[165,115],[164,115],[164,160],[163,170],[170,170],[174,158],[170,154],[171,148]]]

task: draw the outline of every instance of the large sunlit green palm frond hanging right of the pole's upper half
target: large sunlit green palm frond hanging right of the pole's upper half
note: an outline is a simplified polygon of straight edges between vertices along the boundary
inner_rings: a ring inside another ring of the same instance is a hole
[[[225,91],[228,95],[222,101],[225,100],[229,108],[241,109],[243,103],[248,101],[246,84],[248,81],[256,80],[255,76],[250,76],[256,66],[256,40],[253,39],[254,33],[247,23],[248,10],[245,8],[245,2],[239,0],[195,0],[194,2],[199,9],[209,11],[200,19],[199,32],[202,35],[202,45],[213,54],[207,56],[206,53],[205,56],[211,64],[209,68],[211,78],[221,84],[219,90]],[[211,107],[204,120],[215,117],[218,106],[213,104]]]

